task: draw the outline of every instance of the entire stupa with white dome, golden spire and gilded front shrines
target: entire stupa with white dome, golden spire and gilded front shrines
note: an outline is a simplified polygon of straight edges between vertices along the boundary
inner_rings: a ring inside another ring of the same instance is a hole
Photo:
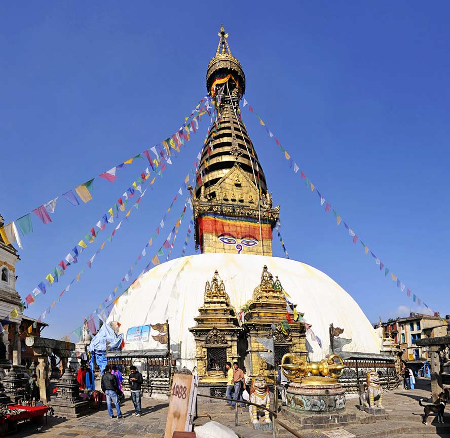
[[[305,263],[272,256],[280,207],[273,205],[241,118],[244,71],[223,26],[218,36],[206,75],[217,117],[192,192],[195,244],[201,254],[167,261],[143,274],[118,299],[107,323],[120,322],[126,354],[161,349],[153,329],[138,344],[127,332],[167,318],[172,357],[179,368],[197,373],[199,390],[212,395],[224,395],[226,361],[237,361],[248,376],[262,375],[269,383],[272,352],[279,362],[288,352],[320,361],[330,352],[327,339],[333,323],[345,329],[343,353],[353,361],[349,370],[356,364],[357,373],[357,378],[348,375],[354,381],[347,388],[356,391],[366,368],[373,368],[369,361],[380,356],[381,339],[356,301],[329,276]],[[286,325],[286,320],[291,321]],[[264,339],[273,339],[274,351]],[[356,362],[353,352],[359,354]],[[358,368],[362,358],[367,361]]]

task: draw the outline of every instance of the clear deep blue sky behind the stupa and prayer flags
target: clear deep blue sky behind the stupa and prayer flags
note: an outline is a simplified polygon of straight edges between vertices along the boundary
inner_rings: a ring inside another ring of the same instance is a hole
[[[385,265],[430,307],[450,313],[449,13],[447,2],[3,4],[0,212],[15,220],[172,134],[205,94],[223,22],[246,74],[245,97],[268,128]],[[370,321],[415,310],[406,290],[385,279],[300,174],[288,170],[258,121],[248,111],[243,117],[281,205],[290,257],[330,275]],[[47,336],[79,327],[121,280],[192,165],[206,127],[54,307]],[[114,184],[96,180],[94,200],[79,207],[61,199],[51,224],[33,218],[16,271],[22,298],[144,168],[143,161],[133,164]],[[185,233],[186,223],[174,256]],[[274,248],[283,256],[276,240]],[[28,314],[40,315],[80,267],[69,268]]]

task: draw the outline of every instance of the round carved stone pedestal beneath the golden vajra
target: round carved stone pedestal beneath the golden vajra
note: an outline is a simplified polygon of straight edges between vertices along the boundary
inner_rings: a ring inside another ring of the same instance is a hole
[[[308,384],[308,379],[304,379],[305,383],[289,382],[286,389],[289,410],[300,414],[328,414],[345,408],[345,389],[340,383]]]

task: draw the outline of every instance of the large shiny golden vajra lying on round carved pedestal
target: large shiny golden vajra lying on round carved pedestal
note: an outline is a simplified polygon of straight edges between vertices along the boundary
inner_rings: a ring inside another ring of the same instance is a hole
[[[289,362],[286,362],[287,359]],[[287,353],[281,360],[281,370],[289,380],[306,377],[309,374],[337,379],[344,373],[344,368],[344,362],[337,354],[330,354],[327,359],[322,359],[320,362],[305,362],[292,353]]]

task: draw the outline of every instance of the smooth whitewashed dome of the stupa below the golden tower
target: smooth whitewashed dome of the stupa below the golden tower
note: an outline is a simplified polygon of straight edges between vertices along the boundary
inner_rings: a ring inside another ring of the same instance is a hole
[[[194,337],[188,330],[195,326],[194,317],[203,305],[205,283],[211,281],[217,269],[230,297],[231,305],[240,308],[252,297],[260,283],[262,267],[277,275],[290,301],[305,313],[322,348],[311,334],[307,339],[313,351],[311,361],[328,354],[330,323],[341,327],[345,338],[352,342],[344,351],[379,353],[381,339],[356,301],[328,275],[305,263],[279,257],[245,254],[199,254],[162,263],[149,270],[130,288],[128,295],[118,299],[107,322],[119,321],[120,333],[127,335],[131,327],[147,324],[170,324],[171,345],[182,365],[191,370],[196,366]],[[151,330],[151,335],[158,332]],[[125,350],[157,349],[163,346],[152,336],[146,342],[127,343]]]

